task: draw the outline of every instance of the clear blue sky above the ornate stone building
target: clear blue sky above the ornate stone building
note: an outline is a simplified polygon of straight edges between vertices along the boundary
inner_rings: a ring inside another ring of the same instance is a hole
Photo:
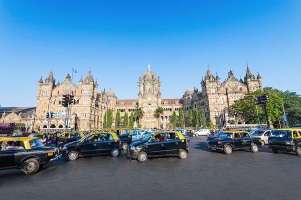
[[[98,92],[137,98],[147,64],[163,98],[201,88],[207,61],[301,93],[301,0],[0,0],[0,104],[36,106],[37,81],[91,71]]]

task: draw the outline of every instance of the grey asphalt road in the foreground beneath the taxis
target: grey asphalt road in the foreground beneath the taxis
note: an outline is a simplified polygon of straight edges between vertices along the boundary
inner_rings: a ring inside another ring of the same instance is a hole
[[[145,163],[97,156],[69,162],[61,159],[46,169],[24,175],[0,171],[1,199],[298,199],[301,157],[273,153],[231,155],[208,149],[205,137],[190,137],[186,160],[150,158]]]

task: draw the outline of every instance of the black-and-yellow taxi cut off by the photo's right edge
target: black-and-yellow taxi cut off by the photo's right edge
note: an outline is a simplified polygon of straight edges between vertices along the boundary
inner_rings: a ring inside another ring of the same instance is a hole
[[[268,136],[268,148],[271,148],[274,153],[283,150],[301,155],[301,128],[271,130]]]

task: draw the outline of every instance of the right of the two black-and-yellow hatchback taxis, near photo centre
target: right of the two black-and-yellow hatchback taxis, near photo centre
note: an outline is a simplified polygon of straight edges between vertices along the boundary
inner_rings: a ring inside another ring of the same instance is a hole
[[[178,131],[151,132],[141,140],[133,141],[127,147],[128,158],[137,159],[140,162],[145,162],[148,157],[169,155],[186,159],[188,152],[188,142]]]

